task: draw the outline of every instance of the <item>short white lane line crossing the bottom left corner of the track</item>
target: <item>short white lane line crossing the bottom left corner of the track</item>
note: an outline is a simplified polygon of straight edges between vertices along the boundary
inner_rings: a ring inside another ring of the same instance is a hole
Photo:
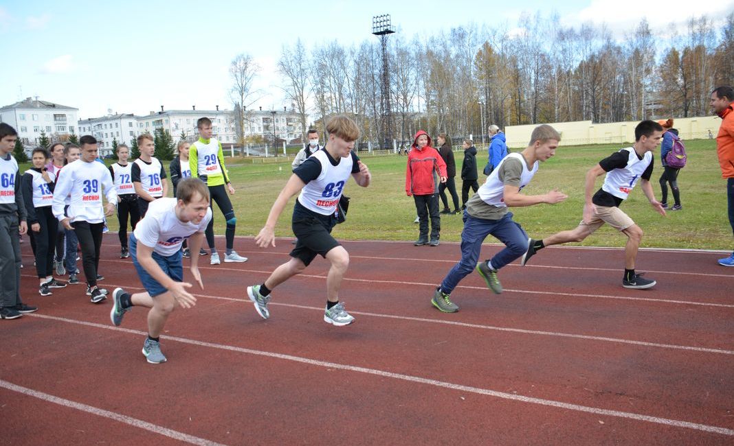
[[[208,439],[184,434],[183,432],[164,428],[163,426],[148,423],[147,421],[143,420],[138,420],[137,418],[128,417],[127,415],[121,415],[115,412],[109,412],[109,410],[100,409],[95,406],[89,406],[87,404],[77,403],[76,401],[70,401],[65,398],[59,398],[58,396],[43,393],[38,390],[29,389],[28,387],[22,387],[17,384],[12,384],[12,382],[7,382],[4,379],[0,379],[0,387],[4,387],[7,390],[12,390],[13,392],[22,393],[23,395],[32,396],[48,403],[59,404],[59,406],[70,407],[71,409],[81,410],[82,412],[87,412],[92,415],[109,418],[110,420],[119,421],[120,423],[126,423],[136,428],[141,428],[145,429],[146,431],[153,432],[153,434],[168,436],[172,439],[177,439],[181,442],[190,443],[192,445],[222,446],[222,443],[211,442]]]

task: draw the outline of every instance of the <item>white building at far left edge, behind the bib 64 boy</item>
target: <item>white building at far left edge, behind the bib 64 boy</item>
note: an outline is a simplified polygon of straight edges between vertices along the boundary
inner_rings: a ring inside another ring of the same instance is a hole
[[[79,134],[76,131],[78,114],[79,108],[26,97],[0,108],[0,122],[12,125],[23,145],[32,147],[38,144],[42,130],[51,141],[65,140],[71,133]]]

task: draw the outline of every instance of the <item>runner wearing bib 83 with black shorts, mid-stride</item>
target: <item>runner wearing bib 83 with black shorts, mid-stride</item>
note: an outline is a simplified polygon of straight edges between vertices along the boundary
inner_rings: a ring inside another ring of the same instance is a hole
[[[299,274],[319,254],[331,263],[327,276],[327,304],[324,321],[337,326],[351,324],[355,318],[344,310],[339,302],[339,286],[349,267],[349,253],[332,237],[331,230],[337,222],[335,211],[349,175],[357,185],[367,187],[371,174],[365,164],[352,152],[360,135],[352,119],[334,116],[326,127],[329,139],[319,150],[294,169],[286,187],[270,209],[265,227],[255,243],[260,248],[275,246],[275,223],[288,204],[288,199],[300,192],[293,209],[292,228],[297,237],[291,250],[291,260],[277,267],[261,285],[247,287],[247,295],[255,310],[268,319],[270,291],[288,278]]]

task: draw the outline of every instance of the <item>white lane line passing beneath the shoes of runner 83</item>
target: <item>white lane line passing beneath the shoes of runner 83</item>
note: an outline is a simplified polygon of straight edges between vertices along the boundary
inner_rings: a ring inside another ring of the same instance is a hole
[[[120,285],[109,283],[109,286],[117,287]],[[120,287],[125,288],[125,289],[134,289],[134,290],[141,290],[141,291],[144,290],[142,287],[139,287],[139,286],[120,286]],[[236,298],[236,297],[212,296],[211,294],[199,294],[199,293],[195,293],[194,295],[196,297],[206,297],[207,299],[226,300],[229,302],[244,302],[246,305],[251,303],[250,300],[246,300],[244,299],[244,297]],[[272,302],[271,301],[269,305],[276,305],[276,306],[288,307],[288,308],[300,308],[300,309],[314,310],[314,311],[324,311],[324,308],[321,308],[321,307],[310,307],[308,305],[297,305],[297,304],[289,304],[289,303],[283,303],[283,302]],[[444,325],[452,325],[454,327],[479,328],[481,330],[493,330],[493,331],[500,331],[500,332],[515,332],[515,333],[522,333],[524,335],[555,336],[558,338],[574,338],[574,339],[584,339],[586,341],[622,343],[622,344],[633,345],[633,346],[654,347],[658,349],[687,350],[690,352],[734,355],[734,350],[711,349],[707,347],[697,347],[697,346],[680,346],[680,345],[668,344],[668,343],[655,343],[655,342],[647,342],[647,341],[635,341],[631,339],[608,338],[606,336],[578,335],[575,333],[548,332],[548,331],[542,331],[542,330],[526,330],[523,328],[512,328],[512,327],[495,327],[492,325],[471,324],[469,322],[446,321],[443,319],[426,319],[426,318],[418,318],[414,316],[398,316],[398,315],[393,315],[393,314],[382,314],[382,313],[369,313],[366,311],[349,310],[349,312],[360,315],[360,316],[372,316],[372,317],[385,318],[385,319],[399,319],[402,321],[411,321],[411,322],[428,322],[431,324],[444,324]],[[48,317],[54,317],[54,316],[48,316]]]

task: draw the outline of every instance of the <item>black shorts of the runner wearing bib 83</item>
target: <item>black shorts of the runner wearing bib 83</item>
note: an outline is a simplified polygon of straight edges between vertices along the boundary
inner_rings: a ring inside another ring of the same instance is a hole
[[[294,212],[291,228],[298,240],[290,256],[299,259],[307,267],[316,258],[316,254],[325,259],[330,250],[341,246],[331,235],[335,223],[335,219],[331,219],[331,223],[325,223],[316,216]]]

